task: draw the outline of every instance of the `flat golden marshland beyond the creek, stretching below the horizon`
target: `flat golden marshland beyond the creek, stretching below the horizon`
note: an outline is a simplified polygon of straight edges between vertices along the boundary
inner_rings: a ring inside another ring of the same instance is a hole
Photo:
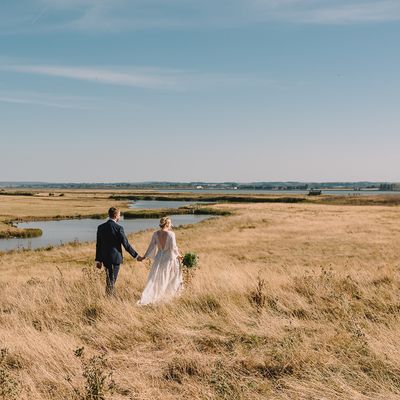
[[[1,192],[0,192],[1,193]],[[400,205],[400,195],[307,196],[285,194],[160,193],[132,190],[7,190],[0,196],[0,221],[105,214],[110,205],[128,210],[129,200],[187,200],[229,203],[316,203],[334,205]]]

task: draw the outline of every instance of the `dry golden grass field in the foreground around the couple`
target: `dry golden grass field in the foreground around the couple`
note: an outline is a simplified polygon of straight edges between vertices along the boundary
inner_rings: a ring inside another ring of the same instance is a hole
[[[110,399],[400,398],[400,210],[217,207],[235,214],[177,230],[201,267],[157,307],[136,305],[148,264],[129,256],[106,298],[93,243],[3,254],[0,393],[94,399],[105,354]],[[130,239],[143,253],[150,233]]]

